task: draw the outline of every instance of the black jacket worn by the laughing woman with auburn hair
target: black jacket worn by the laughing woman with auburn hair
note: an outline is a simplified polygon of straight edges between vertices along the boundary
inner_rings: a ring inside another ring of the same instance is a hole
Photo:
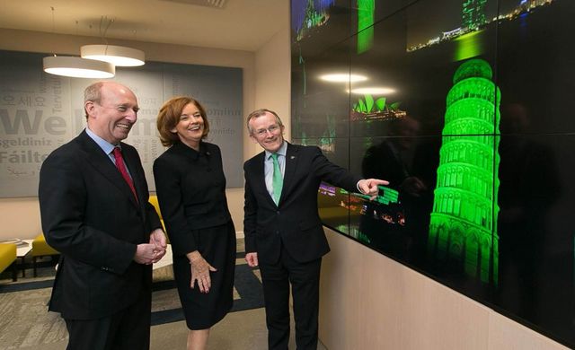
[[[193,230],[232,220],[226,201],[222,153],[200,142],[199,152],[177,142],[154,162],[155,191],[173,254],[199,249]]]

